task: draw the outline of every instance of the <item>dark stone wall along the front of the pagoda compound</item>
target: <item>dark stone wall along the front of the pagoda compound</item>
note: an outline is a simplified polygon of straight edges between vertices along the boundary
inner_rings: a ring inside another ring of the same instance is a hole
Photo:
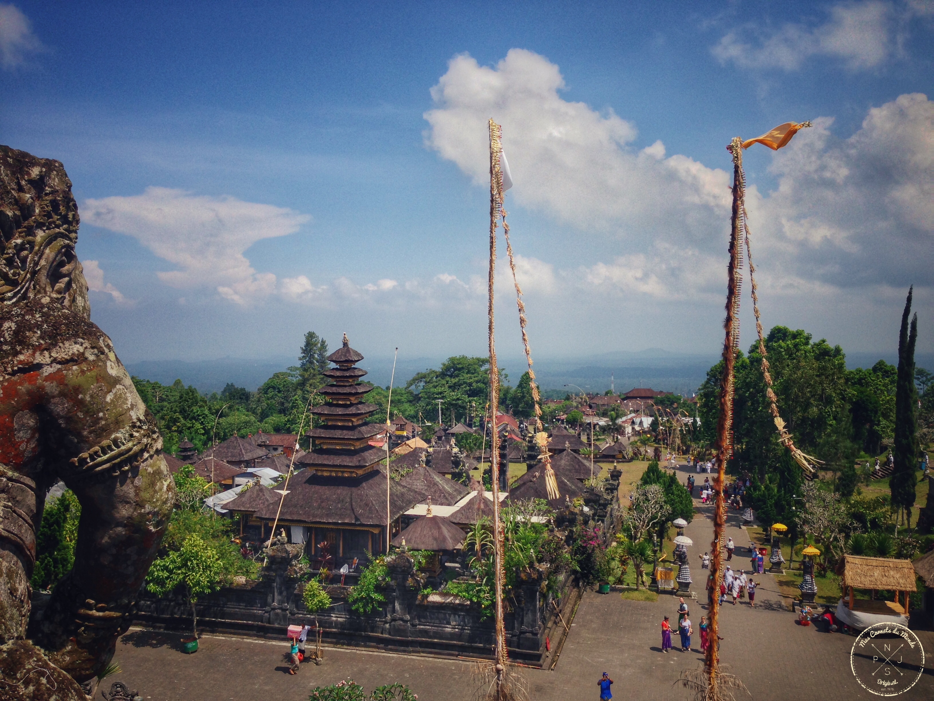
[[[517,662],[550,666],[557,660],[566,635],[565,625],[571,625],[581,592],[570,576],[565,578],[556,609],[550,597],[540,594],[540,584],[539,580],[530,579],[517,587],[517,605],[505,616],[507,646],[510,658]],[[198,602],[198,628],[212,633],[285,640],[286,626],[315,622],[315,617],[304,609],[304,583],[290,580],[285,591],[288,600],[276,602],[273,579],[223,587]],[[482,620],[479,607],[456,597],[423,596],[407,584],[392,585],[383,593],[387,601],[381,608],[361,615],[347,603],[347,587],[329,587],[329,594],[334,606],[318,614],[325,643],[477,658],[492,656],[492,619]],[[191,608],[181,596],[156,597],[144,591],[137,601],[136,624],[191,630]],[[545,637],[550,651],[546,650]]]

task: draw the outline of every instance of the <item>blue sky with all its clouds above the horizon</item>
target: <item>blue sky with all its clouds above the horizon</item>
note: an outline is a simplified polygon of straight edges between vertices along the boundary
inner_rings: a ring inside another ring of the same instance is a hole
[[[934,3],[461,5],[0,2],[0,142],[64,163],[121,357],[482,353],[488,117],[541,357],[716,352],[724,147],[807,119],[745,153],[763,322],[890,350],[914,284],[934,350]]]

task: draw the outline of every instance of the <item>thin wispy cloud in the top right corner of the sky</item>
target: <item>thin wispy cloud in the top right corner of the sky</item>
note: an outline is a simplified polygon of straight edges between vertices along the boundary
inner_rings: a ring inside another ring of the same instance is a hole
[[[791,71],[814,56],[841,60],[851,70],[875,68],[899,51],[907,22],[930,13],[930,4],[925,5],[897,6],[880,0],[842,3],[830,7],[828,18],[817,25],[788,22],[771,33],[745,25],[721,38],[712,51],[722,64],[742,68]],[[745,36],[753,41],[744,40]]]

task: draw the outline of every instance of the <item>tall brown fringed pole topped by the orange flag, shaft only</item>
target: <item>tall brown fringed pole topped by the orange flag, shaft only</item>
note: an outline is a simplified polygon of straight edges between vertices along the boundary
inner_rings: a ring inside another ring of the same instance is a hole
[[[729,231],[729,266],[727,268],[727,317],[723,323],[723,376],[720,379],[720,415],[716,422],[717,454],[716,477],[714,479],[714,543],[711,546],[711,586],[707,591],[708,612],[710,613],[710,640],[706,652],[707,688],[709,698],[717,698],[717,637],[719,629],[720,581],[723,579],[723,535],[727,523],[724,485],[726,481],[727,461],[732,452],[733,430],[733,365],[736,359],[736,344],[739,340],[739,280],[740,246],[742,242],[742,176],[743,146],[739,137],[730,142],[729,150],[733,155],[733,205],[730,215]]]

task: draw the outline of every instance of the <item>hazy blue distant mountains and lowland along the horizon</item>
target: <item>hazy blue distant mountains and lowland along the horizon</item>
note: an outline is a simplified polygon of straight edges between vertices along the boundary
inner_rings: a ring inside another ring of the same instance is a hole
[[[849,367],[870,367],[880,358],[893,365],[898,362],[896,353],[854,352],[846,356],[846,364]],[[395,386],[403,386],[422,370],[440,367],[444,360],[400,358],[396,365]],[[610,389],[612,376],[616,392],[626,392],[633,387],[651,387],[690,395],[697,391],[707,371],[718,360],[719,356],[712,353],[690,355],[662,349],[616,351],[579,358],[543,358],[536,360],[535,374],[543,390],[579,393],[582,389],[603,393]],[[919,353],[915,361],[919,367],[934,369],[934,353]],[[140,378],[163,384],[181,379],[185,385],[193,385],[200,392],[219,393],[228,382],[255,390],[273,373],[296,363],[297,359],[288,357],[260,360],[227,357],[204,361],[140,361],[128,363],[127,369]],[[521,357],[500,358],[500,364],[513,385],[526,369],[525,359]],[[360,365],[370,373],[366,378],[368,381],[384,387],[389,385],[392,358],[366,358]]]

